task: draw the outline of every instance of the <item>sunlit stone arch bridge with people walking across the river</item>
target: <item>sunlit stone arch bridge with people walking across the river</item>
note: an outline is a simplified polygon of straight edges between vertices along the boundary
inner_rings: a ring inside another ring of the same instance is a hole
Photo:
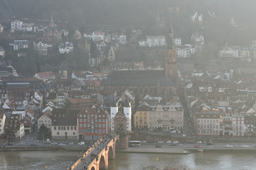
[[[80,155],[80,159],[73,166],[68,167],[68,170],[107,169],[108,159],[114,159],[115,143],[117,140],[119,140],[119,135],[114,134],[99,137],[84,154]]]

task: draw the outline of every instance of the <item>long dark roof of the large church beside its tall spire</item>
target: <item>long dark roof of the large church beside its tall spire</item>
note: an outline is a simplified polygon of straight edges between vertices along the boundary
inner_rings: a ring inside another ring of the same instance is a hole
[[[107,77],[106,86],[175,86],[164,70],[115,70]]]

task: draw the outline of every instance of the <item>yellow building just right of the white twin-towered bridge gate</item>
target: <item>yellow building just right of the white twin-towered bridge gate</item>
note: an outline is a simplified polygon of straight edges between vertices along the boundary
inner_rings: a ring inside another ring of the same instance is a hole
[[[146,106],[137,108],[134,114],[134,127],[136,129],[148,128],[148,113]]]

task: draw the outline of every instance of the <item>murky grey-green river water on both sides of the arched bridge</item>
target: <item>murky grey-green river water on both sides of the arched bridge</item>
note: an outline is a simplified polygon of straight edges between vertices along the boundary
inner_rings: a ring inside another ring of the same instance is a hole
[[[43,152],[0,152],[0,169],[67,169],[73,164],[80,152],[43,151]],[[158,158],[158,161],[156,161]],[[143,165],[158,167],[186,164],[192,169],[207,170],[251,170],[256,169],[256,155],[246,153],[194,153],[194,154],[135,154],[116,153],[110,160],[110,170],[142,169]]]

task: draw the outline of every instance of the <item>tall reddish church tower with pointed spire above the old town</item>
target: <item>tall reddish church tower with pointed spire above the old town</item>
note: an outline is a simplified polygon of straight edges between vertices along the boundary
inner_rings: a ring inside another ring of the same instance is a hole
[[[169,34],[167,38],[167,56],[165,62],[165,76],[171,77],[174,84],[177,86],[178,81],[178,67],[176,61],[176,52],[174,49],[174,30],[170,24]]]

